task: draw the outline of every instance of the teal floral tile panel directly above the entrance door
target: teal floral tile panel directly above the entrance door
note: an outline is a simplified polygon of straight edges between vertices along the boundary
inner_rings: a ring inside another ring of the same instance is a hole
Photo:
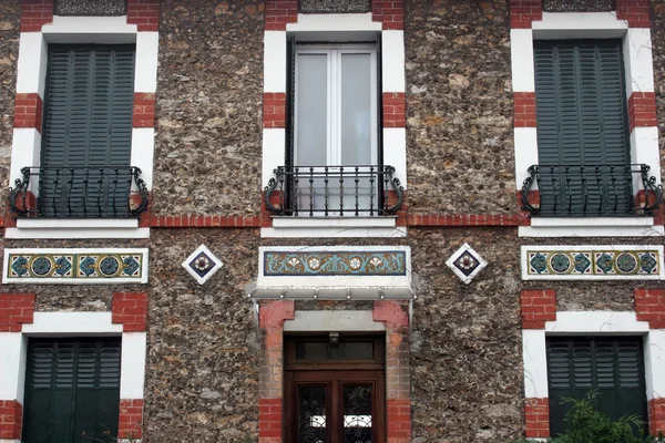
[[[264,253],[264,276],[405,276],[403,250]]]

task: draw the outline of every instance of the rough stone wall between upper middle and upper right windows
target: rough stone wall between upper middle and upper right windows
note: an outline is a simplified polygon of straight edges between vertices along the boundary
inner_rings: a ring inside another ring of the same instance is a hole
[[[412,213],[518,210],[507,3],[406,4]]]

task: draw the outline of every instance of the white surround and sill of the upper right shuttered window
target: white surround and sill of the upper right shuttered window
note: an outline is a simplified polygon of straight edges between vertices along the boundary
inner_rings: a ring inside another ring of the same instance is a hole
[[[511,30],[513,92],[535,92],[534,40],[622,39],[626,104],[633,92],[654,92],[651,30],[628,28],[616,12],[543,12],[532,29]],[[539,164],[538,128],[515,127],[515,185],[529,177],[528,168]],[[635,127],[631,132],[631,163],[651,166],[661,178],[658,128]],[[665,236],[653,217],[533,217],[531,226],[519,227],[520,237],[651,237]]]

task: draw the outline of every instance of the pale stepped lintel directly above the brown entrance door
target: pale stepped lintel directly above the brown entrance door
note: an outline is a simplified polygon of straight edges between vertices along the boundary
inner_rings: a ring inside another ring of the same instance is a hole
[[[284,332],[381,332],[386,323],[374,321],[372,311],[296,311],[284,322]]]

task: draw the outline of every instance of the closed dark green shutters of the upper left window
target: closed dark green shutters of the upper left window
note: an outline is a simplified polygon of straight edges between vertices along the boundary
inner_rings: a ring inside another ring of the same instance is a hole
[[[43,216],[126,216],[133,45],[51,45],[40,208]]]

